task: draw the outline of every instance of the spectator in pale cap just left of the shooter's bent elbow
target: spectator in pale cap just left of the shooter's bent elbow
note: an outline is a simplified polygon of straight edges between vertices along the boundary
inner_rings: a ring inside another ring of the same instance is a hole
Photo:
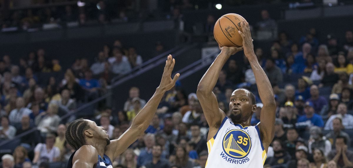
[[[199,124],[201,121],[201,114],[203,113],[200,102],[195,99],[190,104],[190,111],[187,111],[183,116],[182,121],[187,124]]]

